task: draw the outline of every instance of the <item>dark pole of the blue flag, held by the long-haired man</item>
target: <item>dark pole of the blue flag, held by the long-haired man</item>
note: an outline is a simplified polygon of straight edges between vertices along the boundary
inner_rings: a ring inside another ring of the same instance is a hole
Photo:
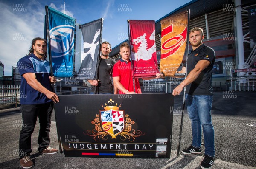
[[[45,6],[45,13],[46,13],[46,27],[47,27],[47,40],[48,40],[48,54],[49,54],[49,62],[50,62],[50,69],[51,69],[51,76],[53,76],[53,71],[52,71],[52,52],[51,52],[51,41],[50,41],[50,31],[49,31],[49,16],[48,16],[48,6]],[[54,84],[52,84],[52,91],[54,91]],[[55,113],[55,111],[54,111]],[[62,153],[62,147],[61,147],[61,138],[59,134],[59,129],[58,129],[58,122],[56,118],[56,113],[55,113],[55,121],[56,121],[56,129],[57,129],[57,136],[58,136],[58,144],[59,144],[59,150],[60,153]]]

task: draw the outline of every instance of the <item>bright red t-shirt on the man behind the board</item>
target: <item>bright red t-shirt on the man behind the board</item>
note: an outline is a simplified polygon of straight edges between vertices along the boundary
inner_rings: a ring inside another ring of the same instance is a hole
[[[127,89],[129,92],[134,91],[133,87],[133,77],[131,71],[131,61],[126,62],[123,59],[120,59],[113,67],[113,77],[120,77],[120,83]],[[135,83],[135,92],[141,93],[139,79],[134,79]],[[125,94],[119,90],[119,94]]]

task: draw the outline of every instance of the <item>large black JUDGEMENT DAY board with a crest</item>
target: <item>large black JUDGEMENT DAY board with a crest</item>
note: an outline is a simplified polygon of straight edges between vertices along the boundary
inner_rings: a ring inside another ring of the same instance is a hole
[[[171,93],[59,98],[55,118],[65,156],[170,158]]]

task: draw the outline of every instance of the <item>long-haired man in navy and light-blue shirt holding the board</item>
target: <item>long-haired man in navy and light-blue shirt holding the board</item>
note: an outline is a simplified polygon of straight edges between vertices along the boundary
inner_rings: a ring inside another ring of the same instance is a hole
[[[46,60],[46,40],[37,37],[32,40],[29,54],[17,62],[21,75],[20,85],[20,111],[23,125],[20,131],[19,155],[23,168],[31,168],[34,162],[30,158],[31,135],[35,129],[37,117],[40,130],[38,135],[38,151],[44,154],[58,152],[49,146],[49,132],[53,102],[58,102],[58,96],[52,92],[51,83],[56,78],[50,76],[50,63]]]

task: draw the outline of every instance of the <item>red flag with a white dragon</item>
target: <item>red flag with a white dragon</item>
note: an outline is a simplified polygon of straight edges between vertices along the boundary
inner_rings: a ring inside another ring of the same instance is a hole
[[[155,21],[129,20],[131,59],[134,78],[152,77],[159,73],[157,67]]]

